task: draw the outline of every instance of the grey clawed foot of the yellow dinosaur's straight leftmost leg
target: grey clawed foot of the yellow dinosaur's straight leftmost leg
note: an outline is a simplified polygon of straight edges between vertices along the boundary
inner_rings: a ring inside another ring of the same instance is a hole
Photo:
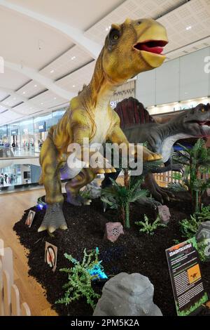
[[[48,230],[48,232],[52,233],[58,228],[62,230],[67,229],[66,220],[62,211],[62,204],[48,204],[45,217],[43,218],[41,226],[38,228],[38,232]]]

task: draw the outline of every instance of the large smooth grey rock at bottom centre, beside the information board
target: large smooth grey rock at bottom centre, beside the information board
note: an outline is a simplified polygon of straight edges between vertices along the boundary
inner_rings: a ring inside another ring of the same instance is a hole
[[[153,294],[148,277],[121,272],[104,285],[93,316],[162,316]]]

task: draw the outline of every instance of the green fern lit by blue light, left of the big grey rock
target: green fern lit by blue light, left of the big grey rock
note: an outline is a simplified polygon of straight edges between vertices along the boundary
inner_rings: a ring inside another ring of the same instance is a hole
[[[60,272],[68,274],[68,282],[64,284],[63,288],[66,289],[64,298],[59,299],[55,303],[62,303],[69,305],[72,301],[77,301],[79,298],[85,297],[87,304],[91,305],[92,309],[95,307],[94,300],[99,299],[99,294],[95,293],[92,289],[92,280],[97,278],[97,275],[91,275],[90,270],[95,266],[103,270],[101,262],[98,260],[99,249],[91,251],[89,254],[84,250],[83,261],[80,263],[71,255],[65,253],[64,256],[71,263],[72,268],[62,268]]]

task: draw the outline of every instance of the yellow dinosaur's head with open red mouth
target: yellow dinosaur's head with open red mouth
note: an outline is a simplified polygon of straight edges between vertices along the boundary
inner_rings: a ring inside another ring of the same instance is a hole
[[[111,81],[121,83],[140,72],[160,67],[168,44],[165,27],[152,19],[111,25],[102,51],[102,67]]]

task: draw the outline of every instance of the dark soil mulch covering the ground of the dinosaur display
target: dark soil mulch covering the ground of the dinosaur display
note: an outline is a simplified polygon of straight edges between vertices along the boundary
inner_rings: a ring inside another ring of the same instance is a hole
[[[48,301],[59,315],[92,315],[92,308],[85,300],[76,301],[67,307],[55,304],[55,301],[64,294],[62,285],[66,282],[66,274],[59,272],[59,268],[69,265],[68,260],[63,256],[64,253],[71,253],[74,258],[81,260],[85,248],[90,251],[98,246],[100,259],[103,260],[102,265],[107,275],[139,272],[147,276],[155,287],[154,302],[162,310],[163,315],[172,316],[176,315],[176,309],[165,249],[174,245],[174,239],[183,242],[179,220],[189,216],[191,211],[189,205],[184,196],[183,202],[169,204],[172,219],[167,228],[156,230],[153,236],[139,233],[134,221],[141,220],[144,213],[155,219],[155,214],[148,209],[132,205],[131,229],[125,230],[125,235],[114,244],[104,240],[103,237],[106,222],[118,220],[116,211],[109,210],[103,213],[99,200],[94,200],[91,206],[80,207],[64,202],[63,210],[68,230],[57,230],[55,237],[50,237],[47,232],[37,232],[45,211],[36,210],[36,206],[32,208],[36,211],[36,217],[31,229],[25,225],[29,211],[27,210],[22,219],[15,224],[14,230],[20,237],[20,243],[29,249],[29,275],[42,284]],[[45,241],[58,247],[55,273],[44,263]],[[210,264],[201,266],[204,286],[210,297]],[[94,284],[94,289],[100,293],[103,285]],[[201,314],[210,315],[210,312],[205,308]]]

